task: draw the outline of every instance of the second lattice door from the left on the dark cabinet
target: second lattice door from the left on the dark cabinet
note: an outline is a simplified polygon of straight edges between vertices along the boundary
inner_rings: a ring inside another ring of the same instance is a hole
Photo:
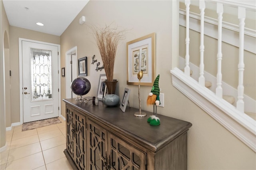
[[[79,170],[86,169],[86,118],[75,111],[75,159]]]

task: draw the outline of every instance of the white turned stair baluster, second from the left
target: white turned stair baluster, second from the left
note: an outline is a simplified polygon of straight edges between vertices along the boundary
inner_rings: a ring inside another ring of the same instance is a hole
[[[204,78],[204,9],[205,9],[205,2],[204,0],[199,1],[199,8],[200,8],[200,15],[201,15],[201,33],[200,33],[200,77],[198,82],[203,87],[205,86],[205,78]]]

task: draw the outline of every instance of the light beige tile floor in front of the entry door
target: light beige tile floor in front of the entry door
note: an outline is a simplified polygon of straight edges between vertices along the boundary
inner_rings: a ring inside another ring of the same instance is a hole
[[[22,125],[6,131],[7,150],[0,153],[0,170],[72,170],[63,151],[62,123],[22,132]]]

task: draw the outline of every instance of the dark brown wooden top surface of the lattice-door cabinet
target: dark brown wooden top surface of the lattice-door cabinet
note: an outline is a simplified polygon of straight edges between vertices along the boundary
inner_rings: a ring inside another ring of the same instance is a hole
[[[91,99],[91,97],[87,97]],[[88,103],[80,103],[75,99],[63,99],[63,101],[85,114],[102,121],[105,125],[123,132],[128,138],[148,145],[150,150],[156,151],[167,143],[177,138],[180,134],[186,132],[192,124],[179,119],[157,115],[160,119],[160,125],[152,126],[147,119],[153,115],[148,111],[146,117],[135,117],[134,113],[138,112],[136,108],[126,108],[122,112],[119,105],[116,107],[107,107],[99,101],[98,106],[92,105],[92,100]]]

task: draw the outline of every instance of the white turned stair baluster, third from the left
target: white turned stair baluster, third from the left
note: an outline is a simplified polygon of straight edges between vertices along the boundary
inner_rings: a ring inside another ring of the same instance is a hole
[[[222,98],[222,73],[221,73],[221,61],[222,61],[222,14],[223,14],[223,4],[217,3],[217,14],[218,14],[218,53],[217,53],[217,87],[216,95]]]

